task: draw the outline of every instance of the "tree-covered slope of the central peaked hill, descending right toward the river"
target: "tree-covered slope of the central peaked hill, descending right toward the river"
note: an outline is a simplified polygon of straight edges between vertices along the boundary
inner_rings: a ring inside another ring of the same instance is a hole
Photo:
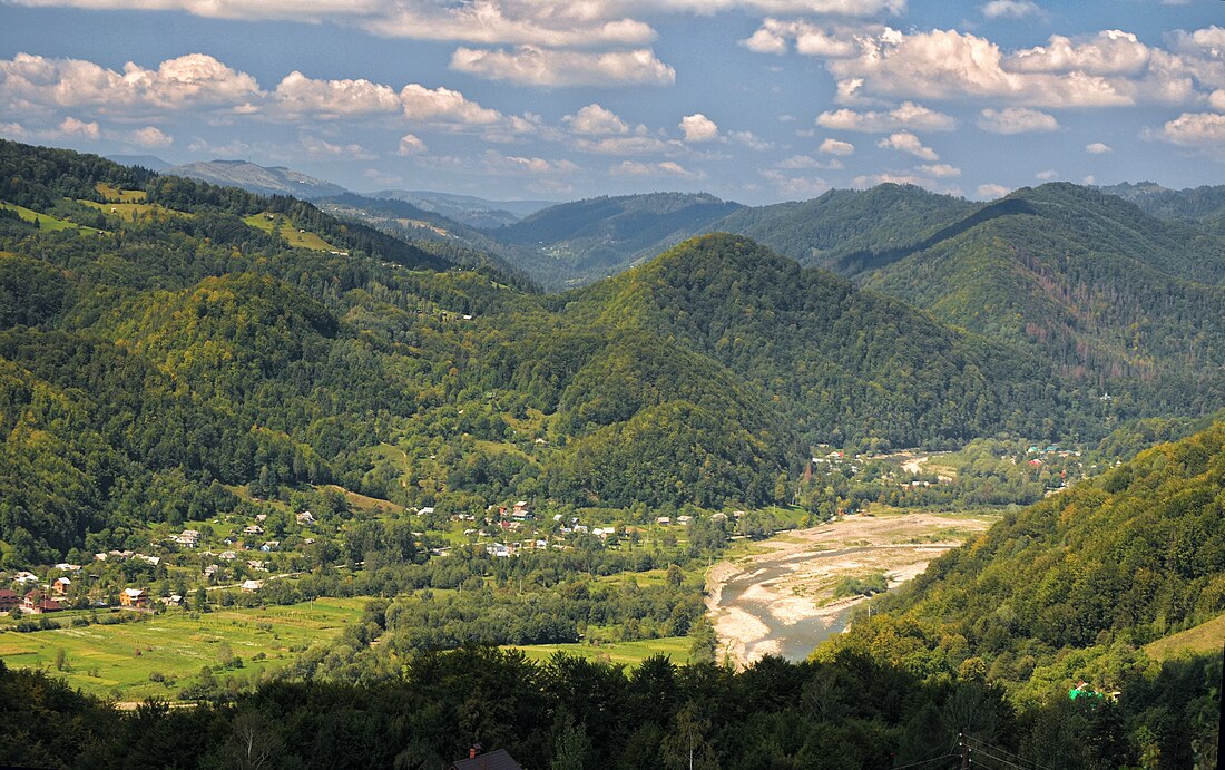
[[[812,443],[1058,433],[1080,408],[1036,359],[741,237],[688,240],[556,302],[588,324],[655,330],[720,362]]]

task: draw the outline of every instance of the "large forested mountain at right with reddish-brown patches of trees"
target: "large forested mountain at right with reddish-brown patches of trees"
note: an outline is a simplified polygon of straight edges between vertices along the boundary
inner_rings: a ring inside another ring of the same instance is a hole
[[[1225,242],[1068,184],[1018,190],[965,224],[860,282],[1028,347],[1101,396],[1221,403]]]

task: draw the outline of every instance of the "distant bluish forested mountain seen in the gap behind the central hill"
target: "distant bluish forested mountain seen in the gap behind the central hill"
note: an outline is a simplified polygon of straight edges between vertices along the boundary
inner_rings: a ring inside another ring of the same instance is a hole
[[[739,208],[740,204],[712,195],[681,192],[594,197],[485,232],[499,243],[543,255],[522,267],[543,286],[560,288],[619,273],[690,235],[709,232],[713,222]]]

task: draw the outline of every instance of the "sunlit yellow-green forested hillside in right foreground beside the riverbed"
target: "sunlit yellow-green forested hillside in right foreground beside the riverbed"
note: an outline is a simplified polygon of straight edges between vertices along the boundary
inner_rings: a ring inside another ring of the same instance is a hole
[[[1078,678],[1118,688],[1143,645],[1225,612],[1223,501],[1218,423],[1007,514],[824,654],[873,649],[911,671],[973,665],[1023,696]]]

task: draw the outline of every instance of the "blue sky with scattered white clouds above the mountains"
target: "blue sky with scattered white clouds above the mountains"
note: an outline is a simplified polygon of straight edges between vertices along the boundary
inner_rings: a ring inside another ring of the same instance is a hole
[[[1225,1],[0,0],[0,136],[494,200],[1225,184]]]

